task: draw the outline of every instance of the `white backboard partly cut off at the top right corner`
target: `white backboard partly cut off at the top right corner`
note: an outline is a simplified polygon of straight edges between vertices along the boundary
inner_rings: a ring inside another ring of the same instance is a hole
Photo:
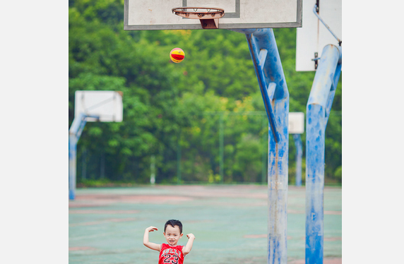
[[[313,12],[316,0],[303,1],[302,28],[297,28],[296,71],[316,71],[315,53],[321,57],[327,44],[338,45],[338,41]],[[342,40],[342,0],[319,0],[319,16],[331,31]]]

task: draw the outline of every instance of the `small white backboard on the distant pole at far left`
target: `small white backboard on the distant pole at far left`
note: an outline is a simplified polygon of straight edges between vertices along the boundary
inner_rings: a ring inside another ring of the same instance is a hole
[[[95,122],[121,122],[124,115],[122,92],[117,91],[76,91],[74,115],[80,113],[100,116],[100,119],[87,118]]]

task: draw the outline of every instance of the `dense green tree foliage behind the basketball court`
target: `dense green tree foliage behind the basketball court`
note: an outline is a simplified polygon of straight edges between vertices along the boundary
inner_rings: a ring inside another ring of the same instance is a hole
[[[124,31],[123,17],[124,0],[69,0],[69,127],[76,90],[124,95],[123,122],[85,126],[78,182],[146,183],[152,157],[157,183],[265,179],[268,120],[245,36],[230,30]],[[274,32],[290,112],[306,112],[314,73],[295,71],[296,29]],[[181,64],[170,61],[174,47],[184,49]],[[326,129],[326,183],[341,182],[341,79]],[[289,145],[293,183],[292,136]],[[304,169],[304,157],[302,163]]]

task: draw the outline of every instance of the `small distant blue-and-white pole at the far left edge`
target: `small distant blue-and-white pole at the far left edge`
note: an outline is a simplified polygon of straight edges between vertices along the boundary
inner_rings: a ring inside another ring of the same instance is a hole
[[[77,142],[83,132],[84,126],[87,123],[86,118],[88,115],[78,114],[73,119],[69,129],[69,199],[76,198],[76,152]],[[98,116],[90,116],[98,118]]]

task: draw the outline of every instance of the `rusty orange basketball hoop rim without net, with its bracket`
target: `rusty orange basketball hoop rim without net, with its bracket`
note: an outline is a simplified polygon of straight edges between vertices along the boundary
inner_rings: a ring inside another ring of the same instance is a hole
[[[172,8],[172,13],[183,18],[199,19],[202,28],[219,28],[219,18],[225,16],[225,10],[217,7],[177,7]]]

